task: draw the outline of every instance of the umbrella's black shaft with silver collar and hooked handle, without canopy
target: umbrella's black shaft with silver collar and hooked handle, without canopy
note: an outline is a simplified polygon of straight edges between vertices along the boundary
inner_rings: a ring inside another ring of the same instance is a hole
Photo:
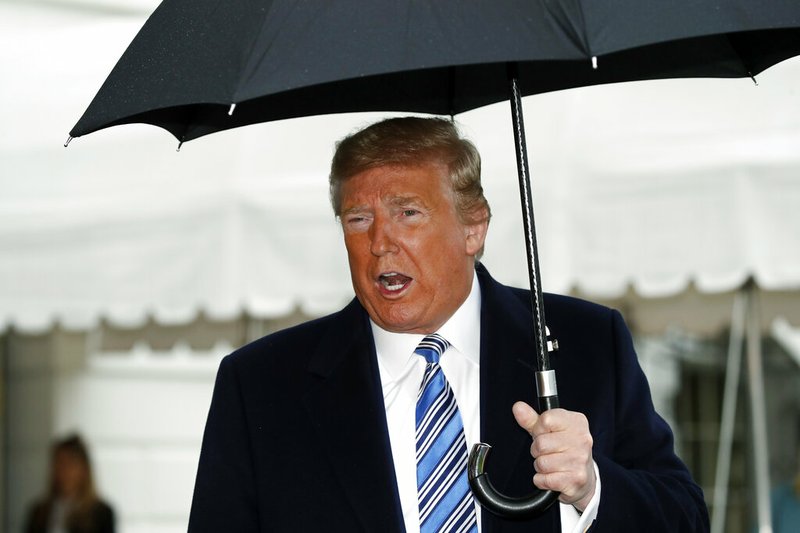
[[[528,173],[528,156],[525,144],[525,124],[522,118],[522,96],[518,85],[516,64],[509,64],[511,119],[514,127],[514,143],[517,153],[517,175],[519,178],[522,221],[525,229],[525,246],[528,258],[528,279],[531,286],[531,310],[536,344],[536,389],[540,412],[558,407],[558,390],[555,371],[550,369],[549,351],[558,349],[556,341],[547,340],[544,318],[544,299],[539,274],[539,255],[536,245],[536,227],[533,219],[533,197]],[[507,517],[527,517],[543,513],[558,500],[559,493],[536,489],[523,497],[506,496],[498,492],[485,471],[486,459],[491,446],[482,442],[475,444],[469,454],[467,474],[475,499],[489,511]]]

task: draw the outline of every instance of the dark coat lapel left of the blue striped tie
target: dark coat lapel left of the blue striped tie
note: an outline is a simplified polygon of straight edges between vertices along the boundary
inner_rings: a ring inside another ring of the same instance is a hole
[[[306,407],[366,531],[402,531],[383,393],[366,313],[353,301],[309,363]]]

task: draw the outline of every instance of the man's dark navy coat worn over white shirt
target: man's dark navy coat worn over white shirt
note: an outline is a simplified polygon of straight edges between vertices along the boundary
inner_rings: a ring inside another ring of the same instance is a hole
[[[530,493],[530,436],[511,406],[536,406],[527,291],[481,284],[481,440],[495,487]],[[602,497],[593,531],[708,530],[700,488],[653,410],[616,311],[546,295],[561,406],[589,419]],[[558,506],[525,522],[482,513],[485,533],[560,531]],[[403,531],[378,364],[358,301],[257,340],[219,369],[189,531]]]

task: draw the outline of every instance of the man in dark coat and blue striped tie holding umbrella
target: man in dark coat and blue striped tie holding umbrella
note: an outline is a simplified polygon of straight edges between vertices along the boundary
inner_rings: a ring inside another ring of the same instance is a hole
[[[546,296],[563,409],[531,407],[530,298],[478,262],[490,217],[480,158],[451,122],[390,119],[346,138],[331,200],[356,299],[223,360],[190,531],[708,529],[618,313]],[[430,339],[438,355],[416,355]],[[423,496],[418,436],[435,380],[455,428],[442,490],[461,492],[430,527],[447,499],[429,513]],[[479,440],[495,448],[500,491],[535,485],[560,492],[559,504],[523,520],[481,510],[460,481]]]

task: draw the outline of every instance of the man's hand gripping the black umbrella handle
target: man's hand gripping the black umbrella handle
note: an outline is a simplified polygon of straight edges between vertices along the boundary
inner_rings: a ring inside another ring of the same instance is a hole
[[[515,403],[512,411],[517,424],[533,438],[534,485],[560,492],[559,501],[583,512],[596,483],[589,421],[582,413],[565,409],[539,415],[525,402]]]

